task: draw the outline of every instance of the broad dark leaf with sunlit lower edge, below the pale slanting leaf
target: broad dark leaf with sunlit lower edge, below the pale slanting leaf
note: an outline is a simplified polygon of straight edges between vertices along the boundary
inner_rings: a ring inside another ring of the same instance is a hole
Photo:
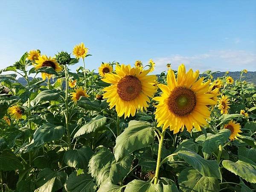
[[[86,169],[92,154],[93,151],[89,146],[68,150],[64,154],[64,162],[76,169]]]

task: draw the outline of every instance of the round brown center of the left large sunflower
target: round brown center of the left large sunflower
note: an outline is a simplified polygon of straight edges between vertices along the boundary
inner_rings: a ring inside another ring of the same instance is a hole
[[[117,93],[121,99],[131,101],[140,95],[142,86],[140,80],[134,76],[125,76],[117,84]]]

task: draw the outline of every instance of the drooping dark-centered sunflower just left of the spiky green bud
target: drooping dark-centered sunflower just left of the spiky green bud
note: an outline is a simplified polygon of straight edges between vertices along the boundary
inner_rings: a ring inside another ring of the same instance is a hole
[[[35,70],[38,70],[41,67],[52,67],[56,72],[60,72],[62,70],[57,61],[54,58],[47,57],[47,55],[40,56],[35,64]],[[46,78],[51,79],[52,74],[42,73],[42,79],[45,80]]]

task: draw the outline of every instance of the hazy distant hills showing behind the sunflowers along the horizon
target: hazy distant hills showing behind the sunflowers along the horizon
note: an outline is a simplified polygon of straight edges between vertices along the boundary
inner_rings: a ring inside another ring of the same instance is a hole
[[[217,79],[218,77],[222,77],[225,75],[226,72],[218,72],[215,73],[213,75],[214,79]],[[240,79],[240,71],[234,71],[234,72],[230,72],[228,74],[228,76],[231,76],[234,80]],[[248,71],[248,73],[243,73],[244,78],[242,78],[242,80],[245,80],[247,82],[253,82],[254,84],[256,84],[256,71]],[[32,77],[29,77],[32,79]],[[41,78],[40,78],[41,79]],[[26,80],[24,78],[19,78],[18,81],[23,84],[26,85]],[[53,83],[54,81],[51,79],[51,83]]]

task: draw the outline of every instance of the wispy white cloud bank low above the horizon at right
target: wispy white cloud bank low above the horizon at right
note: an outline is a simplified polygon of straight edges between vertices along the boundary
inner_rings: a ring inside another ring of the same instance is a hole
[[[200,71],[236,71],[246,68],[256,70],[256,53],[243,50],[211,50],[200,55],[171,55],[169,57],[155,58],[156,72],[166,70],[166,64],[171,63],[177,69],[181,63],[188,68]]]

